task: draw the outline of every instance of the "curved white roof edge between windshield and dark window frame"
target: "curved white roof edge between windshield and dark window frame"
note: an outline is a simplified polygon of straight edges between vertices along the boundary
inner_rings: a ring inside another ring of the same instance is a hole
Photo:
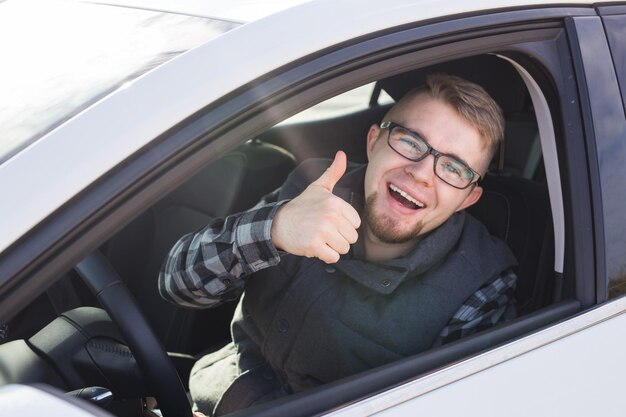
[[[314,0],[239,26],[111,93],[0,165],[0,252],[171,126],[276,68],[350,39],[441,16],[576,4],[592,3]]]

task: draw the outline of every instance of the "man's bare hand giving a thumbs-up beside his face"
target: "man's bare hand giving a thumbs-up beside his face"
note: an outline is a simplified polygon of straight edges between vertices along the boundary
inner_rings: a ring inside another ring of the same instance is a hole
[[[332,191],[346,172],[348,160],[337,152],[332,165],[298,197],[278,209],[272,224],[272,242],[294,255],[335,263],[348,253],[358,237],[361,218]]]

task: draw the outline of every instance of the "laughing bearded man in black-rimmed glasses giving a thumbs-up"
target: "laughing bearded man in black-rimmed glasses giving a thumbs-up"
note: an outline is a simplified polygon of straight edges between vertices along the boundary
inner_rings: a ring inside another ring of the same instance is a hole
[[[513,317],[515,259],[463,211],[503,126],[481,87],[431,76],[370,127],[367,165],[341,151],[305,162],[267,201],[183,237],[163,297],[202,308],[245,287],[233,342],[192,370],[196,409],[258,404]]]

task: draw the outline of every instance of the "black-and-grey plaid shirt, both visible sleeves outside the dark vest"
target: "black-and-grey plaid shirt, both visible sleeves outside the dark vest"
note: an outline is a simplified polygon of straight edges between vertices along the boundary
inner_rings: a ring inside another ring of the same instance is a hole
[[[247,212],[217,219],[199,232],[183,236],[161,270],[161,296],[191,308],[236,299],[243,291],[244,277],[280,261],[270,230],[283,203],[262,201]],[[434,345],[514,318],[516,281],[515,273],[508,269],[479,288],[452,316]]]

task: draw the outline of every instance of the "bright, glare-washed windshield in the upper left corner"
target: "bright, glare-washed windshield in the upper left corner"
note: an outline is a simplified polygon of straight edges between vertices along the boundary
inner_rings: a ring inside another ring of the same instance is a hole
[[[88,3],[0,2],[0,163],[111,91],[237,25]]]

